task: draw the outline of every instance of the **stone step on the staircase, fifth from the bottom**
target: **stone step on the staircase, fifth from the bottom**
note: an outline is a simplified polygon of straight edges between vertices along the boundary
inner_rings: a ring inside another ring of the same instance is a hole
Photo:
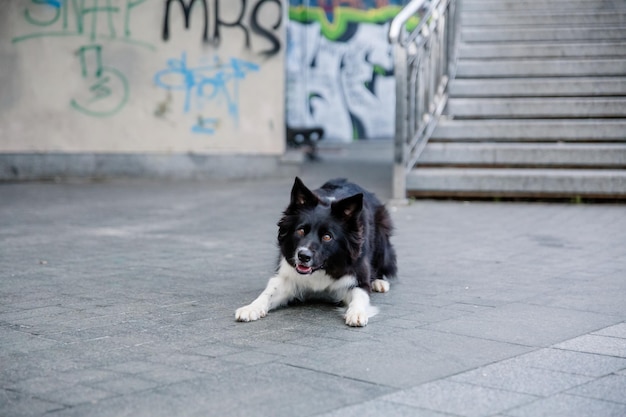
[[[454,79],[448,94],[451,98],[626,96],[626,77]]]

